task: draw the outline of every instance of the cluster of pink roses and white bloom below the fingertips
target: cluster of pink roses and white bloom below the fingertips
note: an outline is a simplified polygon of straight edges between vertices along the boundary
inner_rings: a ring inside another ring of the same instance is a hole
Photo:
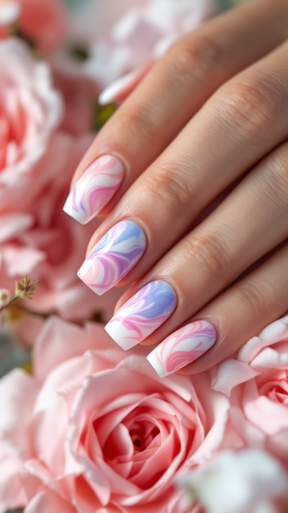
[[[33,377],[0,381],[1,513],[284,511],[288,317],[193,378],[158,378],[146,354],[101,324],[46,321]]]

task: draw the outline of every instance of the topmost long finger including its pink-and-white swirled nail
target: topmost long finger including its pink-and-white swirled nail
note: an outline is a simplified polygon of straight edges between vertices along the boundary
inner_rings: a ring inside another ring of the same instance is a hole
[[[65,211],[82,223],[107,215],[222,83],[284,40],[287,16],[283,2],[262,0],[261,9],[241,6],[177,42],[97,135]]]

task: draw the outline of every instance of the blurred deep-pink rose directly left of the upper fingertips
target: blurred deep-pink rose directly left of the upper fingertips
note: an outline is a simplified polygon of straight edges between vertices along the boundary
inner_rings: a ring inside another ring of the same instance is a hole
[[[0,215],[0,283],[12,291],[14,280],[25,275],[32,281],[40,280],[32,301],[23,302],[32,312],[56,310],[69,319],[87,319],[98,312],[108,320],[120,297],[120,290],[114,289],[100,300],[78,279],[76,273],[84,261],[93,226],[95,229],[99,222],[82,226],[62,210],[72,174],[92,139],[92,134],[77,138],[55,134],[59,150],[49,157],[49,172],[44,170],[46,180],[50,176],[46,187],[29,208]],[[32,178],[28,185],[33,187]],[[19,324],[22,326],[23,322]]]

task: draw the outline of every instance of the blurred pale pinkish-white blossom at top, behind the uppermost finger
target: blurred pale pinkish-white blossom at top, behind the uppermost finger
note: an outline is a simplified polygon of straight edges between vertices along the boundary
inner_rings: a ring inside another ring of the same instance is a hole
[[[102,25],[94,31],[91,57],[85,63],[87,73],[102,86],[159,57],[177,38],[194,30],[215,8],[213,0],[130,0],[123,3],[121,12],[119,7],[115,9],[115,0],[109,0],[109,4],[110,9],[107,0],[102,0],[93,7],[92,19],[101,21],[110,13],[107,19],[110,28],[104,31],[105,25]],[[117,17],[111,15],[115,12]]]

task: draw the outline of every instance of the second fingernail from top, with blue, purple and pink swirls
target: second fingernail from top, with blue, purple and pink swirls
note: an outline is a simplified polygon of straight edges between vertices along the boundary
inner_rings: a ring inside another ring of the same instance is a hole
[[[78,277],[96,294],[104,294],[134,267],[145,247],[141,228],[133,221],[120,221],[92,249]]]

